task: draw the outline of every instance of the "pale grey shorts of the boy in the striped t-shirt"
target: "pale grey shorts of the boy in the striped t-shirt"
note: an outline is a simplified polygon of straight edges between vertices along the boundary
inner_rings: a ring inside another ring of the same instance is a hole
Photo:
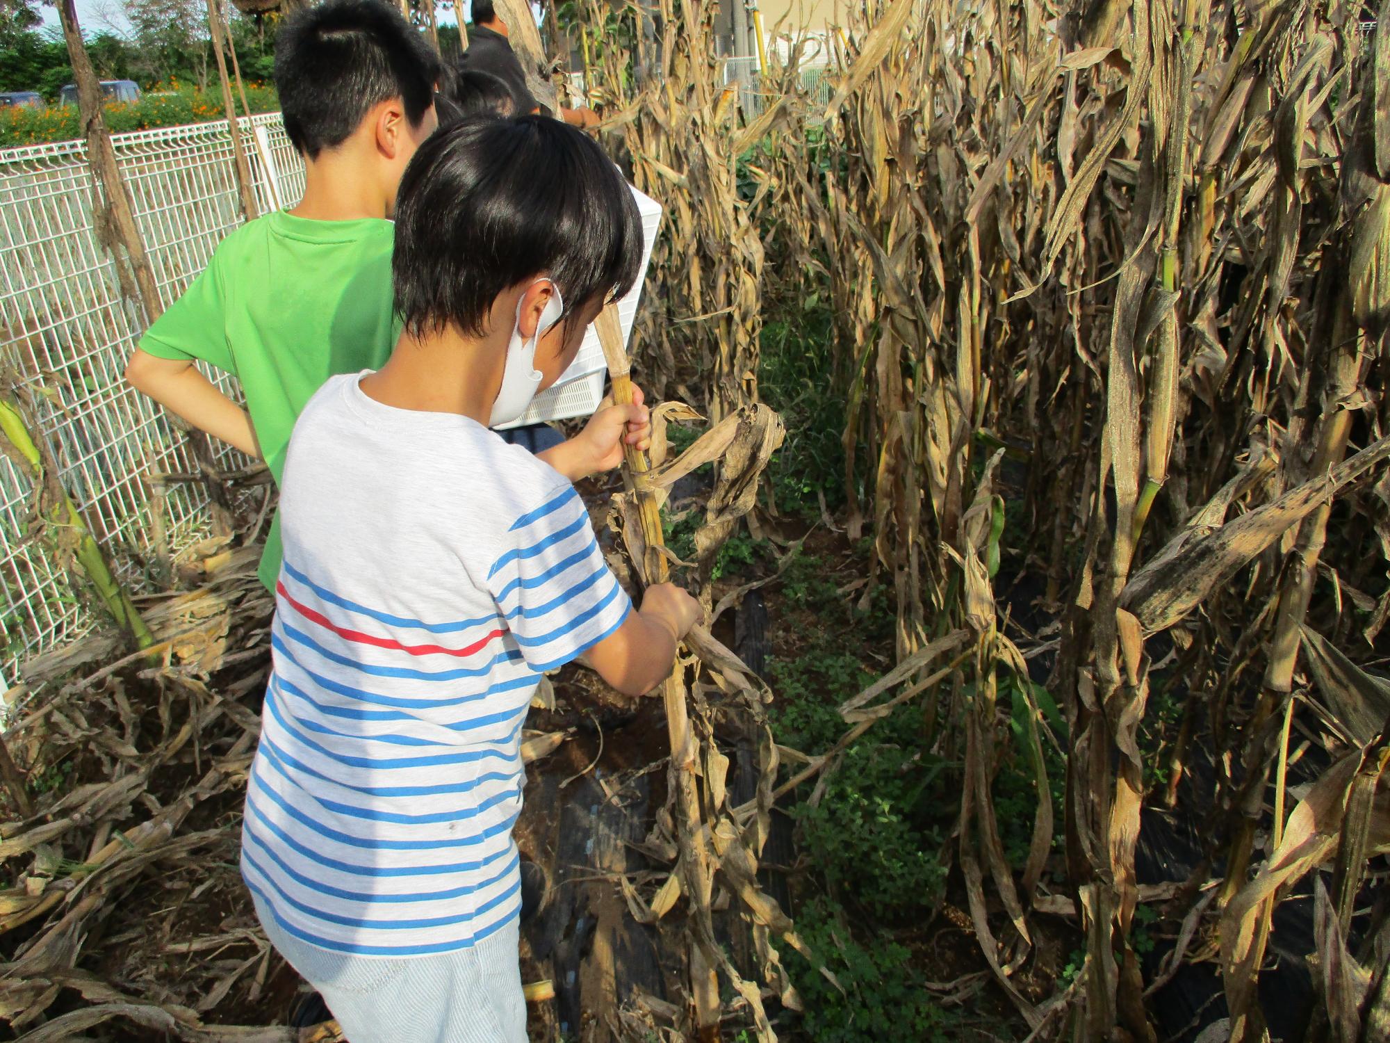
[[[525,1043],[516,919],[473,948],[391,960],[300,941],[253,901],[265,937],[320,992],[349,1043]]]

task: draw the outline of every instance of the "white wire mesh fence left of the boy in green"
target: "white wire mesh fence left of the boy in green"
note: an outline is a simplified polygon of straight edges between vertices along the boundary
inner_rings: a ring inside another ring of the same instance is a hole
[[[304,172],[279,115],[240,127],[259,207],[293,206]],[[239,221],[227,122],[115,135],[113,145],[168,305]],[[186,437],[122,380],[145,312],[97,238],[93,191],[85,142],[0,150],[0,364],[117,576],[139,590],[156,534],[174,549],[186,544],[206,531],[208,501],[202,484],[181,483],[152,513],[149,476],[197,467]],[[220,466],[245,463],[220,449]],[[21,659],[95,622],[35,502],[31,476],[0,456],[0,690],[17,683]]]

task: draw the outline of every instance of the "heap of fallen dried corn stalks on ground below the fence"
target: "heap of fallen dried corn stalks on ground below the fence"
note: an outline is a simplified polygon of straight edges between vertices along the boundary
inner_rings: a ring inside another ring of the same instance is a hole
[[[0,825],[11,880],[0,890],[0,1017],[19,1039],[124,1030],[289,1043],[284,1028],[204,1021],[228,994],[257,1005],[271,950],[246,919],[238,832],[190,825],[204,804],[240,791],[250,766],[260,720],[242,700],[264,688],[272,608],[257,558],[256,547],[213,555],[200,562],[204,587],[146,604],[146,652],[122,658],[92,637],[49,656],[47,674],[29,673],[49,688],[6,741],[29,770],[38,808]],[[206,686],[210,672],[247,659],[245,676],[215,694]],[[75,784],[44,791],[46,776],[74,763]],[[161,901],[165,889],[179,900]],[[146,901],[132,901],[142,890]],[[242,909],[240,922],[207,921],[208,907]],[[200,908],[206,933],[189,935]],[[172,944],[179,928],[185,940]]]

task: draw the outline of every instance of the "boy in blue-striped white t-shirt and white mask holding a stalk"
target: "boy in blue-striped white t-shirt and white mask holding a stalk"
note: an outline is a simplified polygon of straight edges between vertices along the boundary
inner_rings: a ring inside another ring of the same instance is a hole
[[[520,1043],[527,706],[578,656],[651,691],[701,611],[670,584],[632,611],[564,477],[617,466],[637,412],[549,463],[488,426],[627,292],[641,224],[596,143],[521,117],[427,140],[395,236],[395,352],[331,378],[289,445],[242,872],[352,1043]]]

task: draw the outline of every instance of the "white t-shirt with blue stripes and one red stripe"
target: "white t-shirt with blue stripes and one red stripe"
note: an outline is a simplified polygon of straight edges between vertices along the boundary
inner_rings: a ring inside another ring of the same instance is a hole
[[[427,955],[517,915],[527,705],[631,602],[557,471],[359,380],[289,445],[242,875],[304,941]]]

